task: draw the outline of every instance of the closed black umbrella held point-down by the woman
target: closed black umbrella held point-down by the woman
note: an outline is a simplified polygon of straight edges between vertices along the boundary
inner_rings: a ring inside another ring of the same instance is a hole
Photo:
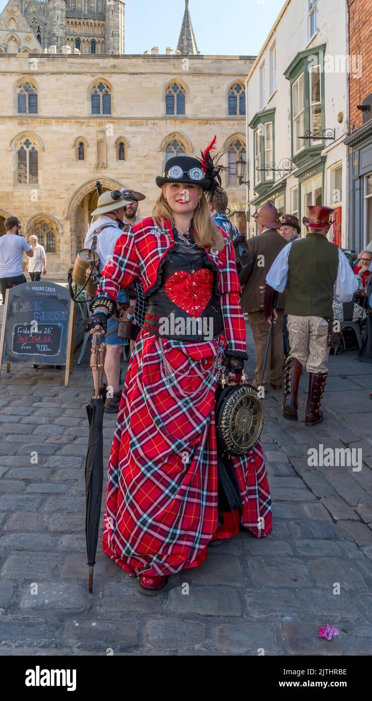
[[[89,421],[89,440],[85,461],[85,538],[90,592],[93,590],[93,567],[95,566],[102,504],[104,416],[102,375],[105,350],[106,346],[101,343],[101,332],[93,334],[90,367],[92,368],[95,389],[92,399],[86,407]]]

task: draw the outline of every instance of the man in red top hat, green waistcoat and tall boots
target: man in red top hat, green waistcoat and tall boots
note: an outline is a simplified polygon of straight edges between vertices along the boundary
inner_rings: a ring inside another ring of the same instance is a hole
[[[333,317],[333,297],[351,301],[357,292],[357,278],[345,254],[326,238],[333,224],[330,207],[310,206],[303,224],[305,238],[288,243],[275,259],[266,283],[287,292],[284,313],[288,315],[291,348],[285,369],[284,418],[297,421],[298,383],[303,367],[309,373],[305,425],[322,421],[320,402],[328,373],[329,320]]]

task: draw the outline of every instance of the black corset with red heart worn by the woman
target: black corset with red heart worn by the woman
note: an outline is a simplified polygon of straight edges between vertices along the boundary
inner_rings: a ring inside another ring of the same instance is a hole
[[[159,287],[149,297],[145,331],[174,341],[210,341],[219,336],[224,328],[217,273],[205,251],[185,247],[174,237],[174,246],[160,265]]]

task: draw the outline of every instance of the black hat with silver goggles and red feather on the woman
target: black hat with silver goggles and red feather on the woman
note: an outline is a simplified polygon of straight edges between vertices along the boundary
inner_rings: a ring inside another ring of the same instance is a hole
[[[223,165],[217,165],[219,155],[212,158],[210,151],[214,150],[216,137],[214,136],[201,158],[191,156],[174,156],[165,163],[163,177],[156,177],[156,184],[161,187],[167,182],[184,182],[200,185],[205,190],[209,199],[221,189],[221,171],[226,170]]]

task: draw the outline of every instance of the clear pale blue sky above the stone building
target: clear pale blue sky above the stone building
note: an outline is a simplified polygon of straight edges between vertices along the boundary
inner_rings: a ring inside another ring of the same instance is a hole
[[[0,0],[0,11],[7,0]],[[189,0],[200,53],[256,55],[284,0]],[[127,0],[125,53],[177,48],[184,0]]]

